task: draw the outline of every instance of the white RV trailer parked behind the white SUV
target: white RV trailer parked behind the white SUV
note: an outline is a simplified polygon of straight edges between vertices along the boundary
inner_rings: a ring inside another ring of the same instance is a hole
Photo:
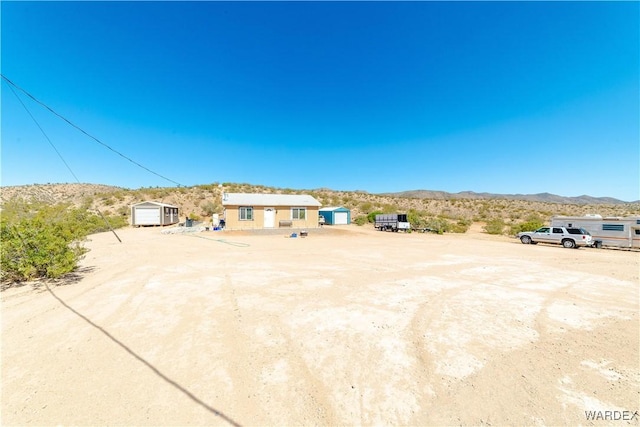
[[[640,216],[554,216],[551,226],[584,228],[603,246],[640,249]]]

